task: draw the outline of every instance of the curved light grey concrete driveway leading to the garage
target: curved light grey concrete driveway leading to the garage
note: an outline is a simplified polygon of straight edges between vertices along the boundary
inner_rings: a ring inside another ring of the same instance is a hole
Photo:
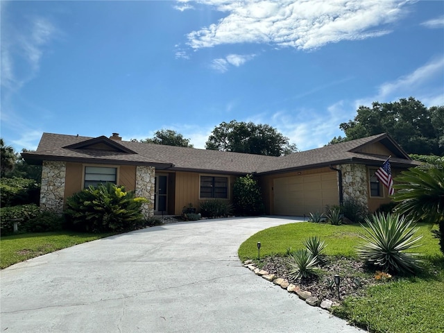
[[[241,266],[245,239],[293,222],[172,223],[10,266],[1,332],[360,332]]]

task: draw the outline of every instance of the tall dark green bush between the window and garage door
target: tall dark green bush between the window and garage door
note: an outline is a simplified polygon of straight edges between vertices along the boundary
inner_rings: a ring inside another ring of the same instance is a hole
[[[233,186],[234,212],[241,216],[261,215],[265,212],[261,189],[252,175],[239,177]]]

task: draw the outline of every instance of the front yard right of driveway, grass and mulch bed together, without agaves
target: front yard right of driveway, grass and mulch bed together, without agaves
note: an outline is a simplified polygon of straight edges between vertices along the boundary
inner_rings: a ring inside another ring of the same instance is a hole
[[[341,306],[333,313],[370,332],[444,332],[444,256],[432,225],[420,224],[423,270],[416,276],[384,278],[368,268],[355,252],[360,225],[290,223],[262,230],[239,248],[239,258],[254,259],[259,267],[287,278],[318,298],[338,300],[334,274],[341,275]],[[296,280],[289,275],[287,254],[303,248],[302,241],[318,236],[325,241],[326,264],[317,278]],[[261,242],[257,260],[257,242]],[[293,280],[291,280],[293,279]],[[307,305],[309,306],[309,305]]]

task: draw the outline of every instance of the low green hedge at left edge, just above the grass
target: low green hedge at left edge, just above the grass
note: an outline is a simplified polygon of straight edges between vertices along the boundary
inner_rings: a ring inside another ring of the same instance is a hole
[[[22,219],[19,224],[19,231],[26,231],[28,221],[40,214],[37,205],[17,205],[13,207],[2,207],[0,209],[0,229],[1,234],[10,234],[14,231],[14,219]]]

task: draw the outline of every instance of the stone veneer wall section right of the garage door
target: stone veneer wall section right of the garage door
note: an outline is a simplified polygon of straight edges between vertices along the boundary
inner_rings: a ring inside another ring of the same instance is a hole
[[[364,164],[342,164],[342,186],[344,200],[353,198],[368,209],[367,169]]]

